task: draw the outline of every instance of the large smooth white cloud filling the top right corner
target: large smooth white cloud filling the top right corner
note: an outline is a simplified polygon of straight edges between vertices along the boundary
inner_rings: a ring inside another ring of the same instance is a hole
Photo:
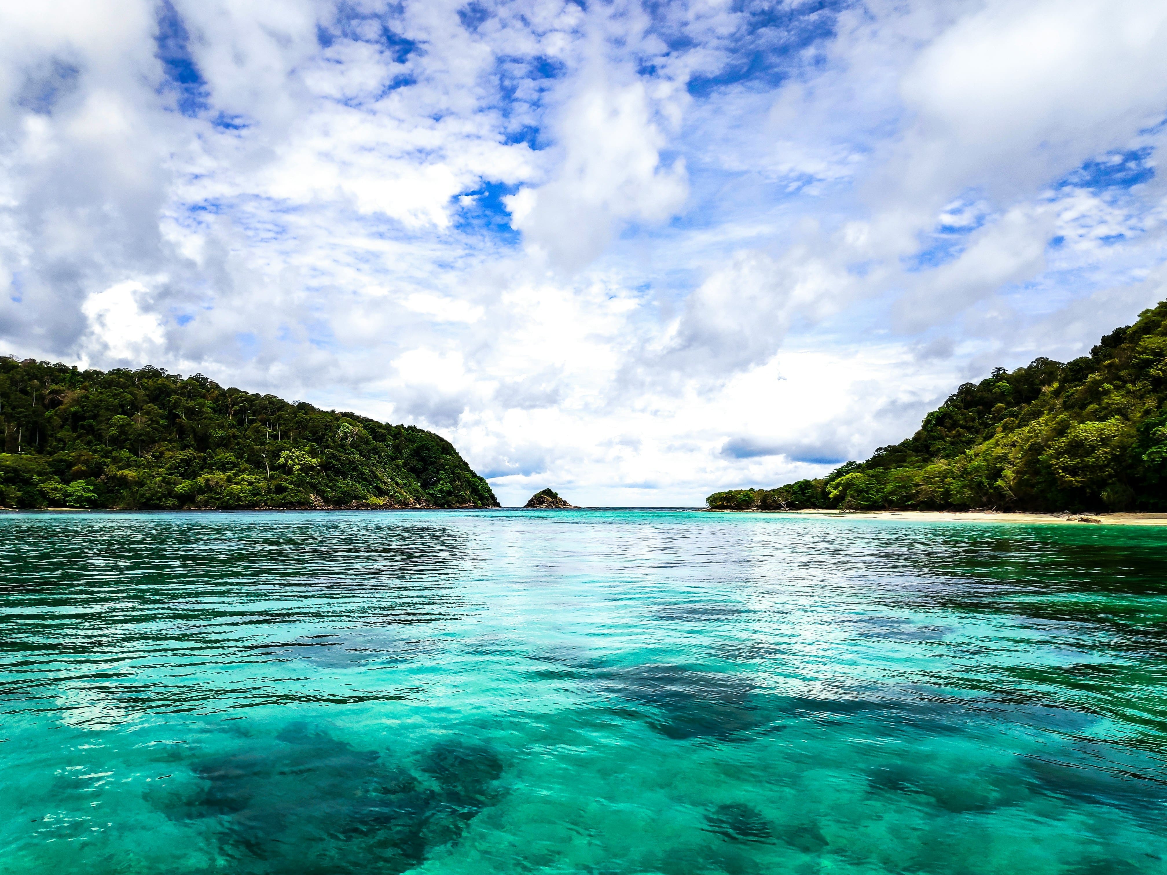
[[[903,78],[917,184],[977,174],[1033,189],[1121,145],[1167,107],[1165,41],[1167,7],[1153,0],[985,4]]]

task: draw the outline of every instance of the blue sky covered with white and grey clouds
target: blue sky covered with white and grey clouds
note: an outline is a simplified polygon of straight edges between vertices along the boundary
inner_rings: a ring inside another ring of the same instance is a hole
[[[415,424],[504,505],[819,476],[1167,299],[1162,0],[0,8],[0,354]]]

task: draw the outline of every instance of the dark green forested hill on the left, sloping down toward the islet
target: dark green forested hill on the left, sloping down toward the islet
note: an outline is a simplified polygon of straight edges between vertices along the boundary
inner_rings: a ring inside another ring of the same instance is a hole
[[[445,439],[156,368],[0,357],[0,505],[496,508]]]

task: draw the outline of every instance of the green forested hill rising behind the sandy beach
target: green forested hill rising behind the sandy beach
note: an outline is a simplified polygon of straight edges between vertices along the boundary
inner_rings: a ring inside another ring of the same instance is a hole
[[[1167,301],[1068,364],[966,383],[915,435],[827,477],[715,492],[718,510],[1167,511]]]

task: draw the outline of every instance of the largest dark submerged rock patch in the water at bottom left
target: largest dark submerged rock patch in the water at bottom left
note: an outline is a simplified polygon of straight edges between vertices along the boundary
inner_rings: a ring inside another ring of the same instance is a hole
[[[503,771],[468,738],[436,742],[413,768],[302,723],[240,741],[238,752],[193,764],[193,797],[158,800],[174,819],[218,820],[236,873],[347,873],[370,860],[390,875],[413,869],[496,802]]]

